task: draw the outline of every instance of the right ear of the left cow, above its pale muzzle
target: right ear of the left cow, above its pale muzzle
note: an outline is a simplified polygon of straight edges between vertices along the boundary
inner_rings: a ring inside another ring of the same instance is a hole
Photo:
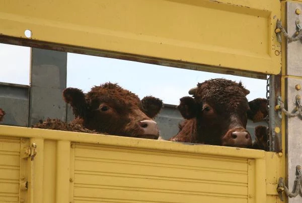
[[[143,112],[149,117],[154,118],[162,109],[163,101],[152,96],[144,97],[141,100]]]

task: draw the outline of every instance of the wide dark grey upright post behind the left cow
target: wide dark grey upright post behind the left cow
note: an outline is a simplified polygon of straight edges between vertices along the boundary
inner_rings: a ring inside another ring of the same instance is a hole
[[[29,123],[59,118],[66,121],[66,104],[62,90],[66,88],[67,53],[32,48]]]

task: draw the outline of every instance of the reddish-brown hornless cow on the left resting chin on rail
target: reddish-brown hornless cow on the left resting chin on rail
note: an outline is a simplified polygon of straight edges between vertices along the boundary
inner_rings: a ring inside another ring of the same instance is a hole
[[[61,126],[61,129],[72,131],[75,126],[77,129],[83,126],[80,130],[124,137],[159,138],[159,129],[153,120],[163,106],[158,98],[146,96],[139,100],[134,93],[109,82],[94,86],[87,94],[77,88],[67,88],[63,91],[63,99],[71,105],[75,118],[71,125]],[[34,127],[49,128],[49,122]]]

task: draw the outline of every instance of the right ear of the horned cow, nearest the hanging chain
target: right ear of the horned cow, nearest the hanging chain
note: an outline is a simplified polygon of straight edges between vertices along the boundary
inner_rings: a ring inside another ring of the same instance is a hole
[[[249,102],[250,109],[247,112],[248,118],[253,120],[253,122],[262,121],[268,114],[267,99],[257,98]]]

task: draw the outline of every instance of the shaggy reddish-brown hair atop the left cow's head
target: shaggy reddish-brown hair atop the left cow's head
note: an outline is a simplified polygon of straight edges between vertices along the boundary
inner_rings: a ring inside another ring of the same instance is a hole
[[[105,83],[101,86],[95,86],[87,93],[87,100],[91,101],[119,101],[121,105],[137,105],[140,106],[140,100],[134,93],[125,90],[115,83]]]

